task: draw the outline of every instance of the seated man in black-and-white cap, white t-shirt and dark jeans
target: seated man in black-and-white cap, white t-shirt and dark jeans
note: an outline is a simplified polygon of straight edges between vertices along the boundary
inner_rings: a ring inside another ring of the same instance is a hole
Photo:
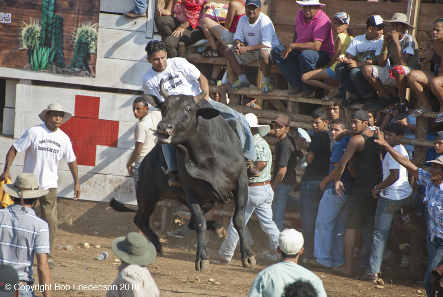
[[[372,99],[378,98],[377,92],[363,77],[361,69],[365,65],[377,63],[376,57],[383,46],[383,28],[385,24],[379,15],[371,16],[366,21],[368,32],[355,37],[348,49],[346,57],[339,57],[340,63],[335,66],[335,73],[340,84],[349,93],[350,98],[340,106],[348,107],[354,103],[368,102],[363,109],[369,109]]]

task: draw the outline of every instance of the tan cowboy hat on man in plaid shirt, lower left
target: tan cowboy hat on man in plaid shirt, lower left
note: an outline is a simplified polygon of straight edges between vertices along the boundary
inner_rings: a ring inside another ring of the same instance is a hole
[[[37,176],[32,173],[20,173],[13,184],[5,184],[4,192],[14,198],[20,198],[20,190],[23,191],[23,199],[39,198],[49,193],[39,187]]]

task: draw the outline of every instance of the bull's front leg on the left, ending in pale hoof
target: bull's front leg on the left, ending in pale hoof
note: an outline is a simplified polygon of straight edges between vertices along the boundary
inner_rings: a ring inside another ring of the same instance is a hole
[[[202,199],[191,189],[186,189],[186,200],[197,232],[195,270],[204,270],[209,266],[209,258],[205,247],[206,220],[201,209]]]

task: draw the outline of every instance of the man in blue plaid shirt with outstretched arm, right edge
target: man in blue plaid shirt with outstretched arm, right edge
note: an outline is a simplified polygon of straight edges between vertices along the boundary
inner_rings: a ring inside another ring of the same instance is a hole
[[[431,297],[431,272],[443,264],[443,155],[432,161],[430,172],[418,168],[409,159],[388,145],[383,139],[383,133],[377,128],[378,140],[375,142],[384,147],[391,156],[404,166],[417,179],[417,183],[426,188],[424,201],[427,205],[426,229],[428,240],[426,248],[429,254],[428,267],[423,281],[426,294]],[[443,296],[439,292],[438,297]]]

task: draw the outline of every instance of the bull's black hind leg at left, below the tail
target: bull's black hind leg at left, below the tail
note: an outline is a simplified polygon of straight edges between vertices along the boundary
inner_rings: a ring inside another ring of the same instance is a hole
[[[154,213],[158,200],[163,195],[163,191],[152,191],[146,189],[143,183],[137,184],[137,204],[138,212],[134,217],[134,224],[143,232],[148,240],[154,245],[158,254],[162,254],[162,247],[157,235],[149,228],[149,218]]]

